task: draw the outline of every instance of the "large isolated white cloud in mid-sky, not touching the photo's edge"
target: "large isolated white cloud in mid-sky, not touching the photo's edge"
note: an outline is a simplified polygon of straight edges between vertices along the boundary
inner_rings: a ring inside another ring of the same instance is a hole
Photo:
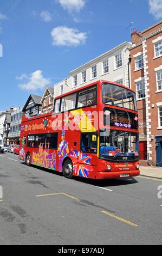
[[[51,31],[53,45],[56,46],[79,46],[87,39],[86,33],[81,33],[76,28],[56,27]]]

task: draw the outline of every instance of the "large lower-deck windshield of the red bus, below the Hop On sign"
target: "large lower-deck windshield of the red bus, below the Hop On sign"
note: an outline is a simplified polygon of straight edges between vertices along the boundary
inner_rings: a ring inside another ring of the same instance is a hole
[[[100,155],[105,159],[137,160],[138,133],[116,130],[104,130],[100,132]]]

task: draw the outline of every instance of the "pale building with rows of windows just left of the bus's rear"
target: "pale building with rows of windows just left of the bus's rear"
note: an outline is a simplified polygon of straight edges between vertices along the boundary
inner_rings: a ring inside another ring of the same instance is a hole
[[[11,113],[11,124],[10,124],[10,144],[20,144],[20,132],[21,132],[21,121],[23,108],[16,108]]]

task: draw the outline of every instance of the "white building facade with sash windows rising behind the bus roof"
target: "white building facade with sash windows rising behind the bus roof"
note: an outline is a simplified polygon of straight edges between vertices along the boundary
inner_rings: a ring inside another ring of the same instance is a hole
[[[124,42],[71,71],[68,78],[55,84],[54,97],[98,80],[108,80],[129,86],[128,59],[131,46],[130,42]]]

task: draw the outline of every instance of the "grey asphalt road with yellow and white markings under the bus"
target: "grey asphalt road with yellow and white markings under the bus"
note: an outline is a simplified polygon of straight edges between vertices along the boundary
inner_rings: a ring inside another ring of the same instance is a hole
[[[0,185],[1,245],[162,244],[162,180],[68,180],[7,153]]]

